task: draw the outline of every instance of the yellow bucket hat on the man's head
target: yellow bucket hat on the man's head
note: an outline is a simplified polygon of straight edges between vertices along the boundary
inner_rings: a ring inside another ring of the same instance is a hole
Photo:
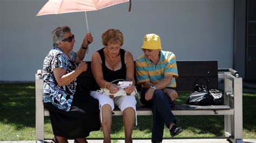
[[[142,49],[162,49],[159,35],[146,34],[143,40]]]

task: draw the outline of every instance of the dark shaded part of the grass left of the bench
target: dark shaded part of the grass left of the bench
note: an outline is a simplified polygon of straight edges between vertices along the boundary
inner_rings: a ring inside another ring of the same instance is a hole
[[[35,83],[0,84],[0,122],[16,130],[35,127]]]

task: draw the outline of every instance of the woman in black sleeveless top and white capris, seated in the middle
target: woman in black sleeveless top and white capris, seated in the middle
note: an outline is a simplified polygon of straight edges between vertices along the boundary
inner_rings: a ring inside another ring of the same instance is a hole
[[[130,87],[125,88],[126,95],[110,98],[102,92],[91,91],[91,96],[98,99],[100,119],[104,136],[103,142],[111,142],[110,132],[112,124],[112,110],[114,105],[123,112],[125,142],[132,142],[132,130],[136,118],[136,99],[134,94],[134,61],[132,54],[121,48],[124,38],[122,32],[109,29],[102,34],[104,48],[92,55],[92,74],[98,88],[107,88],[110,93],[118,91],[117,85],[111,83],[117,79],[132,81]]]

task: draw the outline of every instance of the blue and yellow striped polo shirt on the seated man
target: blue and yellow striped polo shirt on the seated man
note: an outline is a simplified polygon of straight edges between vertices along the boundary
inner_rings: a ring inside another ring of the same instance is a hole
[[[160,60],[157,65],[148,60],[144,54],[136,60],[136,78],[138,84],[146,81],[156,84],[167,74],[173,75],[172,81],[167,87],[175,88],[175,78],[178,77],[178,70],[176,56],[172,52],[160,50]]]

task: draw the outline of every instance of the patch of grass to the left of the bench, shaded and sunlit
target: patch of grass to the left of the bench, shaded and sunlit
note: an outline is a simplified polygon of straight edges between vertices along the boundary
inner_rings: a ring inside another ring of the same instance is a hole
[[[35,139],[35,85],[0,84],[0,140]]]

